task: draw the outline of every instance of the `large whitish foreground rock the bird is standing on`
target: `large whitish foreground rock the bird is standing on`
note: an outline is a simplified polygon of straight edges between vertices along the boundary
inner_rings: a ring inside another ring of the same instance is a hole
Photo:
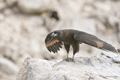
[[[75,58],[75,62],[27,58],[17,80],[120,80],[119,75],[119,64],[104,55]]]

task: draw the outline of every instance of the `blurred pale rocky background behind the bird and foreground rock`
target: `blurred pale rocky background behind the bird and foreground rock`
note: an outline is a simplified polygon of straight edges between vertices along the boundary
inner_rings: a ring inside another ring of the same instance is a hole
[[[120,48],[119,23],[119,0],[0,0],[0,80],[15,80],[26,57],[66,58],[64,49],[46,49],[45,37],[53,30],[85,31]],[[101,52],[82,44],[75,57]]]

